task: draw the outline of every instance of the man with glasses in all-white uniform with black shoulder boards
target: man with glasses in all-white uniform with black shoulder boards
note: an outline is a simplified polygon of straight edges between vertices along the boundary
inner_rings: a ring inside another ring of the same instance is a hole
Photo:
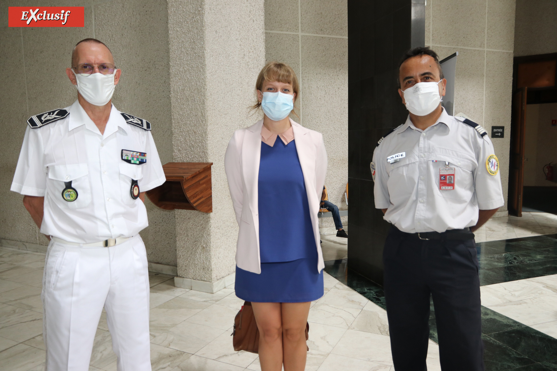
[[[121,71],[85,39],[70,107],[32,116],[11,190],[50,238],[42,284],[47,371],[87,371],[102,308],[118,370],[150,371],[145,191],[165,181],[148,121],[111,103]],[[139,200],[138,200],[139,199]]]

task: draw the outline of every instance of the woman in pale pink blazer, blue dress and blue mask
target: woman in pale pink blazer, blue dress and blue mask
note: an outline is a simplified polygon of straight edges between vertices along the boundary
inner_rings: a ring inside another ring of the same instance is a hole
[[[327,155],[321,133],[288,117],[299,95],[290,66],[267,63],[256,90],[263,120],[234,132],[224,159],[239,227],[236,295],[252,302],[262,371],[302,371],[307,314],[323,296]]]

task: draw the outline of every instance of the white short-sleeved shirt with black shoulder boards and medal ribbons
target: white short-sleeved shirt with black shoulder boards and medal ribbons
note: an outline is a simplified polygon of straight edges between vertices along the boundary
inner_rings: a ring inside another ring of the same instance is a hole
[[[135,180],[143,192],[165,181],[150,124],[113,105],[101,135],[78,101],[47,114],[28,120],[11,186],[45,197],[41,233],[95,243],[131,237],[148,226],[145,205],[134,199],[131,187]],[[123,150],[139,152],[146,161]],[[77,192],[74,201],[62,195],[69,186]]]

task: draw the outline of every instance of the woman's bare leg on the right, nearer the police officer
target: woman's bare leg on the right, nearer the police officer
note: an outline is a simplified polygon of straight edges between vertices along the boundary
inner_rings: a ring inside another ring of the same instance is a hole
[[[311,301],[281,303],[282,362],[284,371],[304,371],[306,367],[306,323]]]

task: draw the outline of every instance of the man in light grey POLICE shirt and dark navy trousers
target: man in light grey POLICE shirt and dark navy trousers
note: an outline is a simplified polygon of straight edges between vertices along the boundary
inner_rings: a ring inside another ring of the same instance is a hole
[[[384,290],[397,371],[426,369],[429,297],[441,368],[483,370],[480,282],[473,231],[504,205],[499,161],[485,130],[441,106],[437,54],[419,47],[399,66],[406,122],[379,141],[375,207],[393,224]]]

